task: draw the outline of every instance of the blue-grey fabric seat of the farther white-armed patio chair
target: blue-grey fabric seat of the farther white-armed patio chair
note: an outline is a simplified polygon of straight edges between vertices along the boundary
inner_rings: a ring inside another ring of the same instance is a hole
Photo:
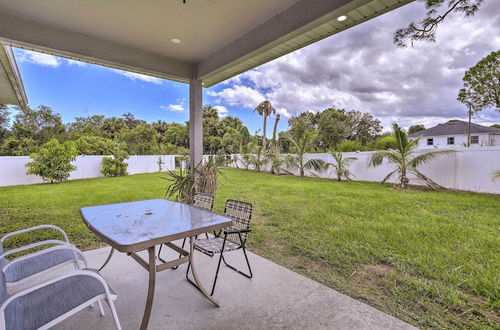
[[[76,255],[79,260],[83,261],[79,254]],[[72,250],[61,249],[19,260],[5,269],[5,280],[7,283],[14,283],[44,270],[74,260],[74,258],[75,253]]]

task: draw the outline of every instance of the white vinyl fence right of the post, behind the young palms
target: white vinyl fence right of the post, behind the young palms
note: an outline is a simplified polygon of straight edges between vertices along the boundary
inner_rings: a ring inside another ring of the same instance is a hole
[[[437,156],[428,164],[423,165],[420,171],[446,188],[500,194],[500,179],[493,178],[493,173],[500,171],[500,147],[457,148],[455,150],[457,151],[455,153]],[[417,150],[416,152],[428,151]],[[393,165],[386,162],[375,168],[368,167],[372,153],[371,151],[344,153],[344,157],[357,158],[349,167],[354,174],[354,180],[380,182],[395,169]],[[232,157],[239,157],[239,155]],[[307,159],[322,159],[329,163],[334,162],[329,154],[324,153],[307,154],[306,157]],[[243,168],[241,161],[237,162],[237,167]],[[264,170],[269,171],[269,166],[266,166]],[[334,178],[335,174],[331,172],[332,168],[324,172],[309,171],[306,175]],[[411,183],[417,184],[413,180]]]

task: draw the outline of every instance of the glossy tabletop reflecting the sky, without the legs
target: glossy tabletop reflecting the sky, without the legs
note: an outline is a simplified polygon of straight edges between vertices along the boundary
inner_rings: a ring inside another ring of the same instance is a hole
[[[120,252],[231,226],[228,217],[165,199],[82,207],[80,213],[92,232]]]

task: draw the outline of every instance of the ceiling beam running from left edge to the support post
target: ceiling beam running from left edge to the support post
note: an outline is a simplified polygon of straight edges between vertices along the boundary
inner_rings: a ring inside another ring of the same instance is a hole
[[[0,42],[160,78],[189,82],[193,64],[0,11]]]

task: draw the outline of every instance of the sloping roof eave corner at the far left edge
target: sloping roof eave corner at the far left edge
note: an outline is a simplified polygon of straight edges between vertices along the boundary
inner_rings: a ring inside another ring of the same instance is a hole
[[[0,44],[0,104],[26,106],[27,103],[12,50]]]

